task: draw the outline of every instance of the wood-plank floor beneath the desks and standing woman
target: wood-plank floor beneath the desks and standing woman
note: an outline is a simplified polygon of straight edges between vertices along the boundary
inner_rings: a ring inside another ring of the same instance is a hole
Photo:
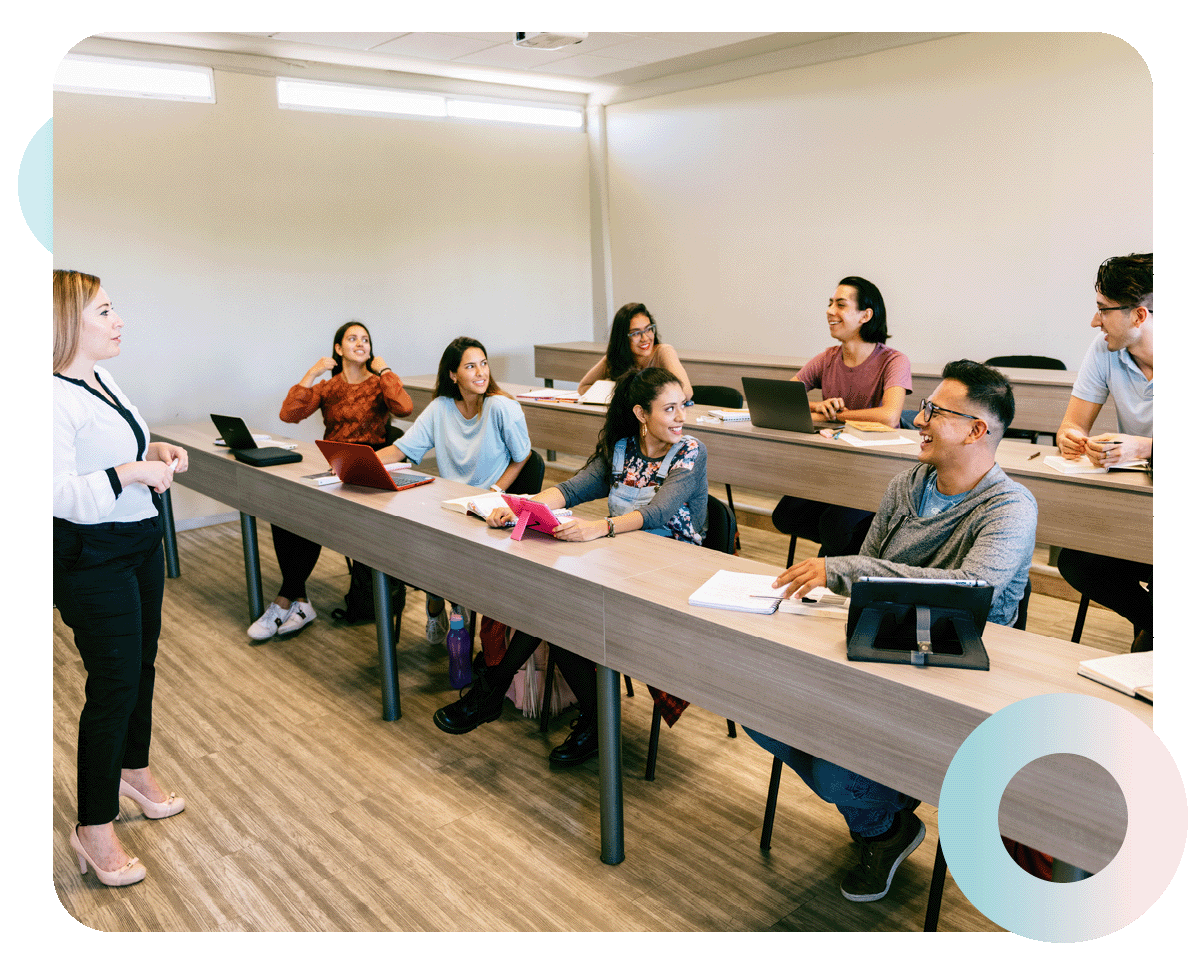
[[[547,484],[558,479],[553,470]],[[724,487],[721,488],[724,494]],[[736,492],[736,496],[739,496]],[[752,509],[752,504],[751,504]],[[740,511],[739,511],[740,514]],[[743,521],[744,556],[782,565],[787,541]],[[766,524],[769,527],[769,521]],[[54,883],[65,910],[106,931],[820,931],[919,930],[936,810],[892,893],[852,904],[838,888],[851,845],[836,810],[785,772],[775,836],[758,848],[770,758],[697,707],[664,730],[658,778],[642,779],[650,698],[623,698],[626,859],[599,859],[596,761],[551,770],[547,734],[511,703],[496,722],[440,733],[452,700],[445,647],[424,641],[410,594],[398,643],[403,716],[380,720],[374,628],[340,626],[349,577],[322,554],[310,596],[320,618],[289,641],[251,647],[236,523],[179,535],[167,582],[152,763],[187,810],[148,821],[122,800],[118,832],[149,876],[108,889],[80,876],[76,722],[84,672],[54,616]],[[278,583],[260,530],[264,589]],[[800,554],[811,553],[803,544]],[[1030,629],[1069,635],[1074,604],[1034,595]],[[1085,643],[1128,649],[1104,610]],[[1064,632],[1066,631],[1066,632]],[[996,930],[948,880],[941,930]]]

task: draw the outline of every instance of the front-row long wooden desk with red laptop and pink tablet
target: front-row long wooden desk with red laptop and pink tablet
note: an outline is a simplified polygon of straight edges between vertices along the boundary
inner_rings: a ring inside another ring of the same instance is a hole
[[[1148,704],[1076,674],[1079,660],[1097,654],[1078,644],[989,625],[984,640],[992,668],[986,673],[850,662],[840,623],[688,606],[688,595],[715,570],[775,572],[763,564],[641,532],[589,544],[538,534],[514,541],[506,530],[440,506],[443,499],[464,496],[458,484],[439,479],[398,493],[316,487],[299,479],[320,462],[312,444],[300,444],[300,463],[254,468],[215,450],[211,434],[204,424],[155,431],[155,439],[188,450],[190,469],[178,482],[245,514],[284,522],[382,574],[487,611],[600,665],[605,863],[624,858],[620,673],[931,804],[964,738],[1009,703],[1048,692],[1084,694],[1152,721]],[[247,529],[244,523],[244,535]],[[558,602],[536,602],[540,596]],[[563,616],[564,598],[570,616]],[[379,647],[384,684],[395,685],[391,640],[383,629]],[[1062,803],[1064,792],[1070,803]],[[1015,794],[1001,821],[1013,839],[1092,872],[1121,844],[1120,791],[1096,782],[1078,758],[1045,758]]]

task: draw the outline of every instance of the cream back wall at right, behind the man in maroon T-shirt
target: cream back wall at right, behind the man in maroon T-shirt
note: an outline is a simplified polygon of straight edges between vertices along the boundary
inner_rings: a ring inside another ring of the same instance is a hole
[[[838,280],[913,362],[1076,368],[1152,248],[1151,80],[1105,35],[976,34],[607,110],[612,284],[678,347],[811,355]]]

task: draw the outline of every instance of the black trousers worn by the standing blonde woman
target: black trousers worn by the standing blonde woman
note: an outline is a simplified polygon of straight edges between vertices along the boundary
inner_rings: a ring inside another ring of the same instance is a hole
[[[150,766],[162,625],[162,522],[54,521],[54,605],[74,631],[88,680],[79,714],[79,823],[110,823],[121,769]]]

